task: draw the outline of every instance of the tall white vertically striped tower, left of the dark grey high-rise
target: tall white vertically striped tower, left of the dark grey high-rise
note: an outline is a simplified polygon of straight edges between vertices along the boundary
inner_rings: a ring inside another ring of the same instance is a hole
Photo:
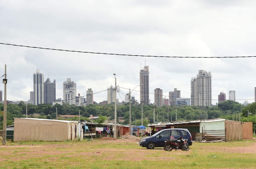
[[[34,73],[34,104],[39,105],[44,103],[44,75],[40,73],[40,70],[37,70],[37,73]]]

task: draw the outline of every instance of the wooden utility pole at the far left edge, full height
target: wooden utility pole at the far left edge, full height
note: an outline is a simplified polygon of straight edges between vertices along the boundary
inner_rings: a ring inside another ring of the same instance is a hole
[[[6,84],[7,84],[7,74],[6,74],[6,65],[5,65],[5,73],[4,73],[4,119],[3,119],[3,145],[6,144],[6,110],[7,110],[7,100],[6,100]]]

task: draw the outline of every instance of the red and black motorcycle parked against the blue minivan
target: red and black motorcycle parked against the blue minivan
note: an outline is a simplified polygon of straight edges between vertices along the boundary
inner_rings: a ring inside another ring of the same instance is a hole
[[[187,143],[188,139],[183,139],[183,136],[180,136],[178,139],[174,139],[174,137],[171,136],[171,139],[167,139],[165,141],[164,150],[165,151],[172,151],[175,149],[177,151],[178,149],[189,151],[189,144]]]

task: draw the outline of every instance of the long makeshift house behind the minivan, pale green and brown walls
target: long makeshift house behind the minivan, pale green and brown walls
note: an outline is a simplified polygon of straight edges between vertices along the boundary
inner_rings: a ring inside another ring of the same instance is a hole
[[[150,124],[152,133],[162,129],[185,128],[192,135],[193,141],[225,140],[237,141],[252,139],[252,122],[239,122],[226,119],[210,119],[197,121],[180,121]]]

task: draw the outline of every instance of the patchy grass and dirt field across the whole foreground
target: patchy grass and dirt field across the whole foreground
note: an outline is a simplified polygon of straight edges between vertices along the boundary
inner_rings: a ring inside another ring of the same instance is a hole
[[[193,143],[189,151],[140,147],[138,140],[7,142],[0,168],[256,168],[256,142]]]

